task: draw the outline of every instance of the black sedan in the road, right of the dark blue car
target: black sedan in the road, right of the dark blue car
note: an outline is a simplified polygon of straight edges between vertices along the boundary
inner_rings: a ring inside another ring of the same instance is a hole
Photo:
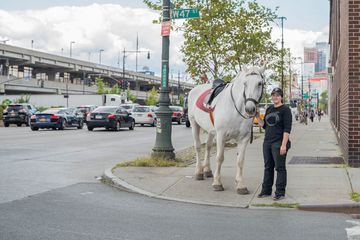
[[[99,127],[114,131],[118,131],[120,128],[134,130],[135,119],[130,115],[131,113],[122,107],[101,106],[88,114],[87,128],[89,131]]]

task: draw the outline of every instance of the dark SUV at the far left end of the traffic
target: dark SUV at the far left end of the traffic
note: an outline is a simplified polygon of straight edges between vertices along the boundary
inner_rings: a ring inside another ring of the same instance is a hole
[[[9,127],[10,124],[16,124],[21,127],[22,124],[30,125],[31,116],[36,112],[36,109],[31,104],[10,104],[3,111],[4,126]]]

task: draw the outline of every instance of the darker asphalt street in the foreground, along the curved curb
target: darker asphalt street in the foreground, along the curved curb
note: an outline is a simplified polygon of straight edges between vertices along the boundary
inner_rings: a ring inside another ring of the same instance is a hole
[[[349,216],[183,204],[100,183],[0,204],[1,240],[344,240]]]

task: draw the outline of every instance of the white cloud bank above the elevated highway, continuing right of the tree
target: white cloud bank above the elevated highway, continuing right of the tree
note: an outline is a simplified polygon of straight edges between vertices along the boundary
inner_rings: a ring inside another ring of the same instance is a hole
[[[8,44],[30,48],[34,40],[35,49],[69,56],[70,41],[73,57],[98,62],[99,50],[103,64],[116,66],[119,51],[123,48],[135,50],[136,34],[139,35],[141,50],[150,50],[151,59],[146,53],[139,55],[139,69],[149,66],[159,73],[161,63],[160,25],[153,24],[158,13],[146,8],[129,8],[116,4],[92,4],[88,6],[51,7],[44,10],[3,11],[0,10],[0,39],[10,39]],[[180,47],[181,33],[172,32],[170,41],[170,67],[174,76],[185,66]],[[314,45],[316,41],[327,41],[327,28],[324,32],[309,32],[285,29],[285,47],[290,47],[295,56],[302,56],[303,47]],[[274,28],[273,38],[279,39],[281,31]],[[120,67],[122,66],[122,53]],[[135,69],[135,54],[126,60],[128,69]]]

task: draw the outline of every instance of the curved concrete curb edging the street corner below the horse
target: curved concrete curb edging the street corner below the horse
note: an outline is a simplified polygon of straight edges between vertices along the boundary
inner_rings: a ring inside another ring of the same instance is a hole
[[[133,192],[133,193],[138,193],[141,195],[145,195],[147,197],[150,198],[156,198],[156,199],[161,199],[161,200],[167,200],[167,201],[173,201],[173,202],[182,202],[182,203],[190,203],[190,204],[198,204],[198,205],[203,205],[203,206],[214,206],[214,207],[227,207],[227,208],[241,208],[241,209],[247,209],[249,208],[249,205],[242,207],[242,206],[236,206],[236,205],[231,205],[231,204],[221,204],[221,203],[211,203],[211,202],[202,202],[202,201],[193,201],[193,200],[187,200],[187,199],[180,199],[180,198],[171,198],[171,197],[166,197],[166,196],[162,196],[162,195],[158,195],[158,194],[154,194],[148,191],[145,191],[141,188],[138,188],[136,186],[133,186],[129,183],[127,183],[126,181],[120,179],[119,177],[115,176],[112,173],[112,169],[106,169],[104,171],[104,174],[102,176],[102,180],[104,183],[109,184],[110,186],[122,189],[122,190],[126,190],[129,192]]]

